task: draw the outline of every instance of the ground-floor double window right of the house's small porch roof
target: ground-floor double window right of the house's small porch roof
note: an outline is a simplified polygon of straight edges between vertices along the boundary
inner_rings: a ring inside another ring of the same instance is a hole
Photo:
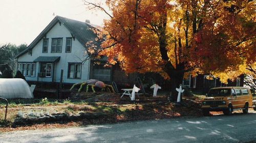
[[[81,63],[69,63],[68,78],[81,78]]]

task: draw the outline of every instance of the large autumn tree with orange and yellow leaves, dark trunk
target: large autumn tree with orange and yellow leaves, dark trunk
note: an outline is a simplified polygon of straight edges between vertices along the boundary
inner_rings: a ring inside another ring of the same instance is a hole
[[[106,0],[109,10],[101,1],[84,4],[110,16],[98,34],[101,48],[91,51],[126,73],[159,72],[174,100],[184,74],[220,75],[255,63],[254,1]]]

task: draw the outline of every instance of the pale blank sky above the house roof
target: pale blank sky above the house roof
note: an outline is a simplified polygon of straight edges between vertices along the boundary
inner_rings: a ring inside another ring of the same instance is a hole
[[[89,19],[101,26],[108,18],[88,10],[82,0],[0,0],[0,45],[29,45],[55,17],[53,13],[79,21]]]

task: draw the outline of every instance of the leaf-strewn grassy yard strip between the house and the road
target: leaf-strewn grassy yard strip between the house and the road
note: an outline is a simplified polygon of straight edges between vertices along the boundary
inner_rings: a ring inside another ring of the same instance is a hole
[[[184,100],[180,105],[164,96],[140,96],[132,102],[116,94],[84,93],[79,99],[13,99],[9,103],[4,121],[5,104],[0,102],[0,131],[202,116],[199,102]]]

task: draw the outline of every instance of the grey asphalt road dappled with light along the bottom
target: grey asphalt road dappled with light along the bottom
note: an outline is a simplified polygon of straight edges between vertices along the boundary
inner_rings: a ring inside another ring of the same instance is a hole
[[[247,115],[139,121],[0,134],[0,142],[244,142],[256,141],[256,112]]]

